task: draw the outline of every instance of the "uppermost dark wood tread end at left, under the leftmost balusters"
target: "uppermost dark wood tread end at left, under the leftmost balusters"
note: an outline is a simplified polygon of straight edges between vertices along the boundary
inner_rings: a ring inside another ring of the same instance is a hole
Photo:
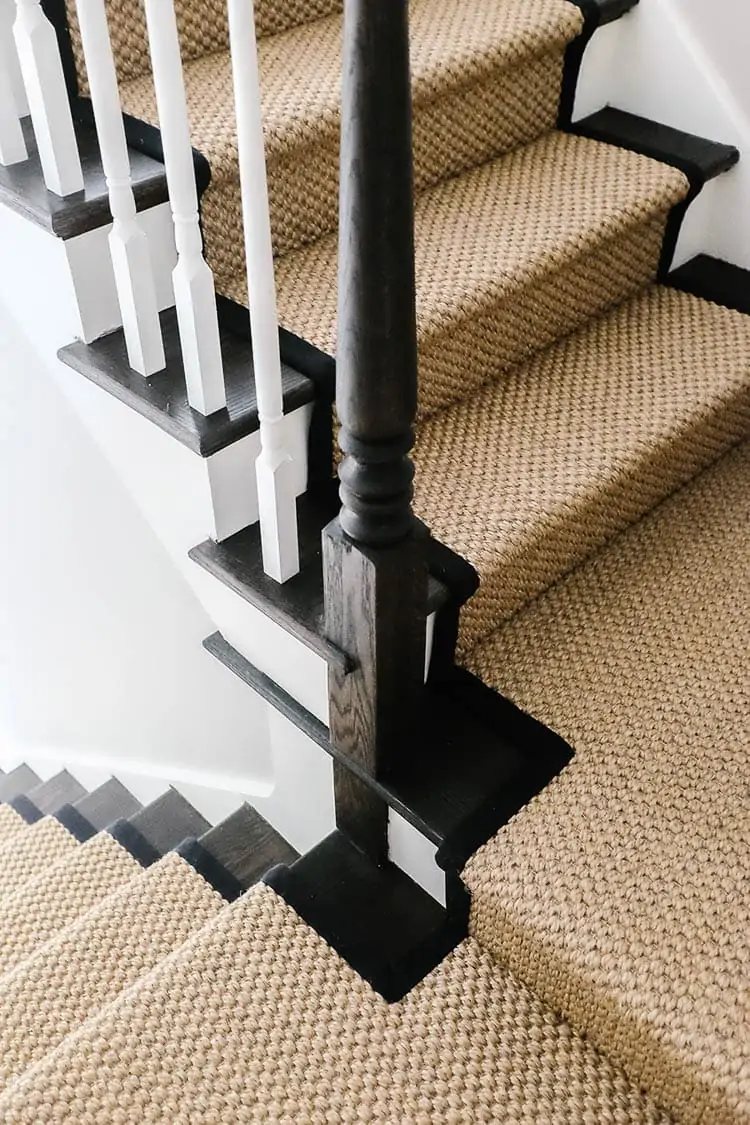
[[[45,187],[30,117],[22,125],[29,159],[9,168],[0,165],[0,202],[60,238],[73,238],[111,223],[96,129],[75,124],[84,188],[62,199]],[[130,150],[130,169],[138,210],[169,199],[164,166],[159,161]]]

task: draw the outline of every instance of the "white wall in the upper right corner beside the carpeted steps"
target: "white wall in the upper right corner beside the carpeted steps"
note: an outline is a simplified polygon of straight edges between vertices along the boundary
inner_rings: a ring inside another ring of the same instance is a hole
[[[747,0],[640,0],[584,58],[577,118],[611,105],[743,154],[690,207],[676,266],[704,252],[750,269],[749,45]]]

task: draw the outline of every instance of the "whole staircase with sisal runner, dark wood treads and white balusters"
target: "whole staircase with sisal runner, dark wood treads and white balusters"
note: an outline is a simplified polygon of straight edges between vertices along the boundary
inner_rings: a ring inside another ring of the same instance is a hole
[[[37,109],[0,201],[115,217],[72,400],[299,749],[216,827],[0,777],[0,1120],[750,1123],[750,273],[674,264],[740,152],[576,115],[629,0],[412,0],[410,118],[344,7],[46,6],[85,198]]]

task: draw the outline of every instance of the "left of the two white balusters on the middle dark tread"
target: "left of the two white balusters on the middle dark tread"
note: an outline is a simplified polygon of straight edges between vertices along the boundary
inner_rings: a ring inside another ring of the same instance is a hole
[[[163,370],[164,345],[148,240],[136,217],[105,0],[76,0],[76,8],[101,163],[109,189],[112,213],[109,249],[128,362],[135,371],[148,376]]]

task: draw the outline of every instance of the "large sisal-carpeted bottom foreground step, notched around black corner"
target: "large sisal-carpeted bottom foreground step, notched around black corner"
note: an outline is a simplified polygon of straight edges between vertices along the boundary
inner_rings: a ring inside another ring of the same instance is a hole
[[[475,940],[387,1005],[266,885],[21,1076],[0,1113],[7,1125],[73,1125],[112,1105],[154,1125],[326,1114],[668,1125]]]

